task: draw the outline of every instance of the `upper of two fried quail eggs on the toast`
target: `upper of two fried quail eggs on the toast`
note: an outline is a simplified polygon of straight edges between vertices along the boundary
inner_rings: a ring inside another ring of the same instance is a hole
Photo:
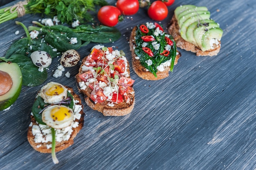
[[[58,103],[67,98],[67,88],[60,83],[50,82],[41,88],[39,96],[45,103]]]

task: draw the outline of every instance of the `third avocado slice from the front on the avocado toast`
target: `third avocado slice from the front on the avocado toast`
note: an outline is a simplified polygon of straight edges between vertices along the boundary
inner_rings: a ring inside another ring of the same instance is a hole
[[[194,38],[194,29],[198,26],[199,23],[201,24],[204,24],[204,23],[213,23],[215,22],[214,20],[200,20],[199,22],[196,21],[196,22],[193,22],[191,25],[189,25],[188,29],[186,30],[186,38],[187,38],[187,41],[191,42],[193,45],[196,45],[197,46],[197,43],[195,41],[195,38]]]

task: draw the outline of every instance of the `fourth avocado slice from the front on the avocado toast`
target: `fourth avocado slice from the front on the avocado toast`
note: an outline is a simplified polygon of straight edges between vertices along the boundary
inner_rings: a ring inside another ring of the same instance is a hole
[[[198,11],[199,13],[200,11]],[[203,11],[200,16],[198,14],[195,14],[195,16],[190,17],[186,21],[183,22],[182,26],[180,27],[180,35],[181,37],[187,41],[186,38],[186,31],[192,23],[199,21],[199,20],[209,20],[210,18],[210,12],[209,11]]]

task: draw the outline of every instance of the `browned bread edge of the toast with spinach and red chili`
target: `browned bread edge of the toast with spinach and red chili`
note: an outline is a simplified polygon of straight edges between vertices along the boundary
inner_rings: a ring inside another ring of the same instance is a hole
[[[157,72],[157,77],[154,76],[153,73],[146,71],[146,68],[144,66],[141,65],[140,60],[137,60],[135,51],[134,51],[134,46],[136,46],[136,42],[135,42],[135,36],[136,36],[136,29],[137,27],[134,27],[132,29],[131,35],[130,35],[130,40],[129,40],[129,44],[130,44],[130,51],[132,54],[132,69],[133,71],[141,78],[145,79],[145,80],[161,80],[163,78],[166,78],[169,76],[169,71],[170,71],[170,67],[166,67],[164,69],[163,72]],[[181,53],[180,51],[177,51],[179,54],[175,57],[175,62],[174,65],[176,65],[178,63],[178,59],[181,57]]]

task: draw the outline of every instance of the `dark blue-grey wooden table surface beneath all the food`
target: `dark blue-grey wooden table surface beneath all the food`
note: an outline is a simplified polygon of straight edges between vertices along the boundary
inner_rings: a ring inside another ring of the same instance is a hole
[[[56,153],[57,165],[51,154],[33,150],[27,141],[31,106],[45,83],[62,83],[79,94],[74,76],[80,64],[65,68],[70,78],[64,74],[54,78],[55,59],[43,85],[23,86],[13,106],[0,112],[0,169],[256,169],[256,1],[176,0],[160,22],[165,31],[174,9],[182,4],[208,7],[211,18],[220,24],[223,37],[218,56],[195,56],[178,48],[182,57],[174,71],[159,81],[143,80],[131,69],[135,107],[127,116],[104,117],[83,101],[84,127],[71,147]],[[27,14],[15,20],[28,27],[40,18],[40,14]],[[146,9],[139,9],[117,24],[121,38],[104,45],[123,49],[131,66],[130,31],[150,21]],[[17,30],[20,34],[15,35]],[[1,24],[0,56],[21,36],[25,32],[14,20]],[[94,45],[78,50],[82,58]]]

